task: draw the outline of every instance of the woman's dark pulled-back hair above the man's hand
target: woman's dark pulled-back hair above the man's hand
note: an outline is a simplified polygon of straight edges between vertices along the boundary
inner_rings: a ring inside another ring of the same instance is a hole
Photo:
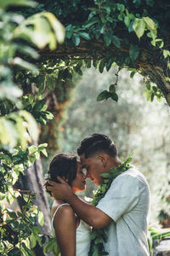
[[[57,176],[67,179],[67,183],[71,185],[72,181],[77,177],[77,155],[76,154],[56,154],[49,164],[48,180],[60,183]],[[48,181],[45,183],[46,191],[48,191]]]

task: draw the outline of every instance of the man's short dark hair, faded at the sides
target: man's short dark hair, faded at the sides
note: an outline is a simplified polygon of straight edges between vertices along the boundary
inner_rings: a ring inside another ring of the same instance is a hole
[[[110,137],[105,134],[94,133],[82,140],[79,148],[77,148],[77,154],[85,154],[88,158],[94,154],[104,152],[112,157],[117,156],[116,145],[111,141]]]

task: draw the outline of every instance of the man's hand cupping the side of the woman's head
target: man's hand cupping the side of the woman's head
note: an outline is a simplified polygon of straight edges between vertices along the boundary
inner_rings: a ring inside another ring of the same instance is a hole
[[[47,189],[52,192],[54,199],[69,201],[69,198],[73,194],[71,186],[69,186],[61,177],[58,176],[57,178],[60,183],[48,180],[48,184],[50,184],[50,186],[48,186]]]

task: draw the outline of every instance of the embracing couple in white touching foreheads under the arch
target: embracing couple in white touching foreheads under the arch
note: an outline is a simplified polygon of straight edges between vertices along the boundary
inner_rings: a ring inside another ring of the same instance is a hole
[[[116,145],[99,133],[83,139],[77,154],[80,161],[76,155],[55,155],[48,171],[46,188],[54,197],[52,229],[60,255],[88,256],[92,227],[105,227],[109,256],[148,256],[149,187],[144,175],[133,166],[122,172],[94,207],[75,193],[85,189],[87,177],[96,185],[104,183],[100,175],[121,165],[121,160]]]

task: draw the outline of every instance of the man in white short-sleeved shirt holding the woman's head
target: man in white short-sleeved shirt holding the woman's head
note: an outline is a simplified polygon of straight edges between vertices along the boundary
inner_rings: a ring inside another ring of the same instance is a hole
[[[111,139],[94,133],[82,140],[77,149],[82,167],[96,184],[102,184],[101,173],[109,172],[121,164],[117,149]],[[106,227],[108,240],[105,251],[109,256],[148,256],[147,216],[149,212],[149,187],[134,167],[120,174],[97,207],[82,201],[71,192],[65,181],[51,183],[48,187],[54,197],[71,204],[77,215],[94,229]]]

